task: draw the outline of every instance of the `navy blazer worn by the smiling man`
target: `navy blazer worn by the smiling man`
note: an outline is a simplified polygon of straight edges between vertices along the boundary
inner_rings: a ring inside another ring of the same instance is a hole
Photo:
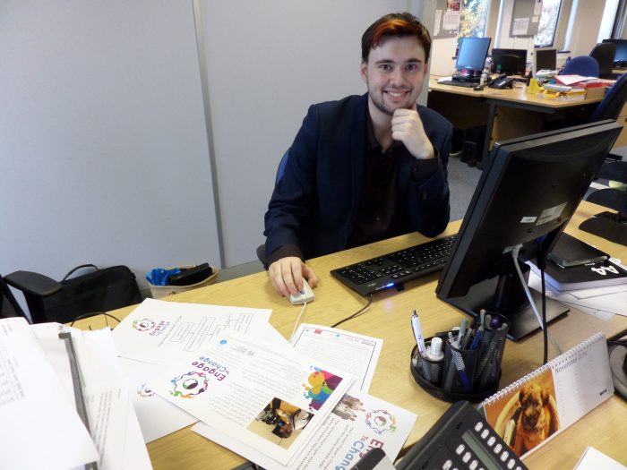
[[[287,244],[300,248],[305,260],[347,248],[365,166],[367,106],[365,94],[309,107],[265,214],[266,256]],[[397,206],[403,233],[435,236],[449,222],[452,125],[432,109],[417,110],[442,167],[412,182],[414,157],[401,146]]]

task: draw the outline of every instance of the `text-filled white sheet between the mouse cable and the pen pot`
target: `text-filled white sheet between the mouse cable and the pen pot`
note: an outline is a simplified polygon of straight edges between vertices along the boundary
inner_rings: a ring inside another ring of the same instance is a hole
[[[355,376],[352,390],[367,392],[383,340],[343,329],[303,323],[291,341],[296,351]]]

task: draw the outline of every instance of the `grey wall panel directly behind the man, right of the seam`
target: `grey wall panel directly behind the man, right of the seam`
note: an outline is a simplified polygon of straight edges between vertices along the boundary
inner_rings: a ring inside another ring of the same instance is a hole
[[[227,264],[256,259],[279,159],[307,107],[362,94],[360,39],[407,0],[201,0]]]

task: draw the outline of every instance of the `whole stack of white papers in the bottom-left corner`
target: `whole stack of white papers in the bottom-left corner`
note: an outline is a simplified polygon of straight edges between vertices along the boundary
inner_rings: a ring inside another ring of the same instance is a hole
[[[0,392],[3,468],[151,468],[109,330],[0,320]]]

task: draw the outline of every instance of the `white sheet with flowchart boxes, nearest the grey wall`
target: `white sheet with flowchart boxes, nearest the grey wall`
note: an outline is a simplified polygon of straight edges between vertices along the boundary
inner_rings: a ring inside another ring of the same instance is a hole
[[[121,357],[165,365],[202,351],[225,329],[266,335],[270,315],[266,309],[146,299],[116,326],[113,338]]]

